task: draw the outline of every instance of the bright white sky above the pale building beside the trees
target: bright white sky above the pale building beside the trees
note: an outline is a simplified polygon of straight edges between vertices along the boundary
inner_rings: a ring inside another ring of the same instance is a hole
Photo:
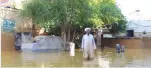
[[[117,0],[127,20],[151,20],[151,0]],[[140,12],[135,12],[140,10]]]

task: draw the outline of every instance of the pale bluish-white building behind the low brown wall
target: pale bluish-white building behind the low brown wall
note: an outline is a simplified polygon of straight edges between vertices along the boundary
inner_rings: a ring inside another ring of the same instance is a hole
[[[127,30],[134,30],[134,37],[151,37],[151,20],[129,21]]]

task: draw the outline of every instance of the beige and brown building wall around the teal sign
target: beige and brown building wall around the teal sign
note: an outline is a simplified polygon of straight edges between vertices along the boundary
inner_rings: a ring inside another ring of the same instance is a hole
[[[14,9],[0,8],[0,24],[3,24],[3,19],[15,20],[15,32],[32,32],[32,21],[23,19],[19,16],[19,12]],[[14,48],[14,32],[8,33],[1,29],[1,49],[15,50]]]

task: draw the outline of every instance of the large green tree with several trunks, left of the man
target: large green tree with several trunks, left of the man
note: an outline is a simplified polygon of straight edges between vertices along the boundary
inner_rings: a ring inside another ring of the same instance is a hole
[[[41,24],[50,34],[61,35],[64,45],[74,41],[81,29],[93,27],[89,0],[31,0],[23,8],[21,16],[32,18],[34,24]]]

